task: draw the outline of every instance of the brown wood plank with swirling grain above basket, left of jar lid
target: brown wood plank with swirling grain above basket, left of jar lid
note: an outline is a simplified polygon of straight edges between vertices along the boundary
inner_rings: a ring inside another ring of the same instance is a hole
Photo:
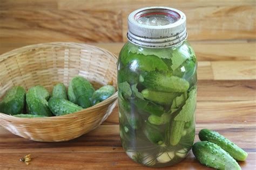
[[[100,17],[99,17],[100,16]],[[1,10],[0,41],[35,44],[50,41],[122,41],[120,11]]]

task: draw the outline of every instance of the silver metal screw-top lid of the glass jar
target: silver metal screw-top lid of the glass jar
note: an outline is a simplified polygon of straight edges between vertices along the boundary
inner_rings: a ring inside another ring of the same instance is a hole
[[[138,9],[129,15],[127,38],[133,44],[152,48],[179,44],[187,38],[186,16],[168,7]]]

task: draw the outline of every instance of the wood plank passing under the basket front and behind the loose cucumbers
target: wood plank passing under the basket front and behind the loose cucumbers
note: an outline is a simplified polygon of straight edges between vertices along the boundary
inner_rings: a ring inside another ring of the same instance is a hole
[[[256,152],[254,142],[256,141],[256,126],[254,123],[197,123],[195,142],[199,141],[198,132],[204,128],[218,131],[248,152]],[[97,129],[77,139],[59,143],[24,139],[3,128],[0,128],[0,137],[1,154],[124,152],[119,138],[119,125],[100,125]]]

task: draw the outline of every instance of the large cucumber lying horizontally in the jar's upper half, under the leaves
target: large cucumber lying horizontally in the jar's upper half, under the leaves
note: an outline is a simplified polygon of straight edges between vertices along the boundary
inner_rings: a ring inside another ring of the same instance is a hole
[[[158,72],[143,72],[139,81],[146,88],[157,91],[185,92],[190,87],[190,84],[185,79]]]

